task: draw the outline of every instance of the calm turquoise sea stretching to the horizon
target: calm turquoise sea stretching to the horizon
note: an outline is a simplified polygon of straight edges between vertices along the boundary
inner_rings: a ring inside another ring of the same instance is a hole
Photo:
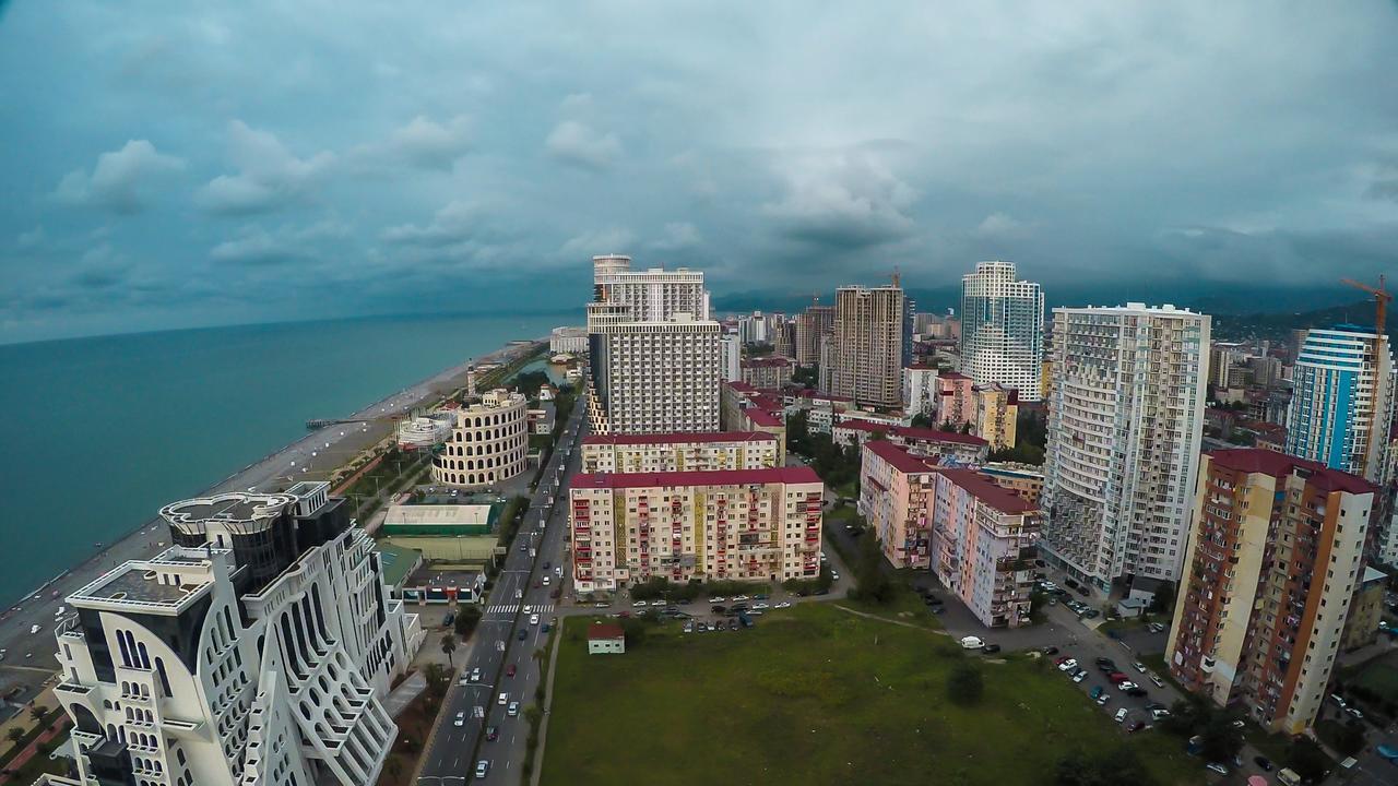
[[[305,435],[580,316],[372,317],[0,345],[0,607]]]

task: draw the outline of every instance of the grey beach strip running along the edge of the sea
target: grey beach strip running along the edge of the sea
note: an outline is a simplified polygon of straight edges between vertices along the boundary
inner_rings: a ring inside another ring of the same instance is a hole
[[[523,343],[516,343],[523,341]],[[361,450],[379,443],[393,434],[396,418],[411,413],[415,407],[435,401],[466,385],[468,368],[480,364],[510,364],[528,357],[540,341],[547,347],[548,337],[512,340],[484,355],[447,366],[438,373],[396,390],[355,413],[338,418],[345,422],[327,425],[282,445],[261,459],[233,470],[192,498],[210,496],[228,491],[243,491],[291,481],[301,474],[326,474],[344,464]],[[354,425],[361,427],[358,431]],[[338,432],[338,434],[336,434]],[[320,453],[324,452],[324,456]],[[96,580],[113,566],[130,559],[150,558],[166,545],[168,536],[159,533],[161,517],[157,515],[136,527],[102,543],[89,557],[74,562],[49,580],[18,594],[0,613],[0,650],[7,650],[8,659],[0,666],[22,666],[27,670],[42,667],[56,669],[53,659],[53,625],[57,622],[53,607],[63,597]],[[165,538],[165,540],[161,540]],[[34,627],[39,631],[31,634]],[[32,656],[32,657],[31,657]],[[4,657],[4,656],[0,656]],[[43,676],[45,678],[48,674]]]

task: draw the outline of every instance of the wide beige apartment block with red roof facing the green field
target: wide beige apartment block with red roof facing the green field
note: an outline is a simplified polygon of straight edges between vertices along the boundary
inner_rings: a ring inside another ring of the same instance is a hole
[[[821,572],[825,484],[809,467],[579,474],[569,494],[579,593]]]

